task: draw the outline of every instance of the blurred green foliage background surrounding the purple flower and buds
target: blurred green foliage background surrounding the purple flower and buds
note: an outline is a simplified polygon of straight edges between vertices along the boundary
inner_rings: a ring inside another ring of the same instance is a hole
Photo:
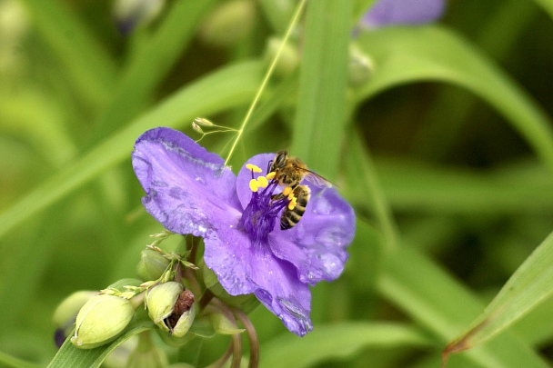
[[[353,32],[372,3],[307,5],[230,161],[287,148],[358,217],[346,272],[313,289],[311,335],[250,315],[262,366],[436,367],[553,230],[553,1],[451,0],[436,25]],[[135,276],[163,230],[136,137],[199,139],[196,116],[238,128],[296,6],[167,1],[123,35],[113,1],[0,0],[0,366],[45,366],[55,306]],[[202,144],[226,157],[233,138]],[[448,366],[548,366],[549,293]]]

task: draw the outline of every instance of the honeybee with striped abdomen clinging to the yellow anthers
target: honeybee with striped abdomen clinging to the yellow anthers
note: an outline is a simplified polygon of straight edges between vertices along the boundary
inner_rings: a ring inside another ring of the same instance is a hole
[[[331,187],[332,184],[321,175],[312,172],[299,158],[288,156],[287,151],[278,151],[275,159],[269,161],[267,172],[275,172],[275,180],[278,184],[289,186],[296,198],[296,205],[293,209],[285,208],[280,216],[280,228],[287,230],[294,227],[306,212],[306,206],[311,197],[311,190],[307,185],[299,184],[302,180],[308,179],[318,187]],[[275,194],[274,201],[284,198],[284,194]]]

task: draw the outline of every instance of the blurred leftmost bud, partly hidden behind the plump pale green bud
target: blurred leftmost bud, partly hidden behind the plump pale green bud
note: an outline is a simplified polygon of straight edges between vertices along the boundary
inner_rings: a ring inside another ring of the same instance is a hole
[[[73,324],[75,323],[76,314],[79,313],[79,309],[97,294],[97,292],[86,290],[75,292],[67,296],[55,308],[52,321],[56,327],[54,339],[57,347],[60,347],[64,343],[71,330],[73,330]]]

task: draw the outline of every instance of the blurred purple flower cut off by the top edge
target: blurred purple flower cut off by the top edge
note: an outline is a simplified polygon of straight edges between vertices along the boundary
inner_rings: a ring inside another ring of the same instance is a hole
[[[361,26],[419,25],[437,20],[446,0],[378,0],[360,20]]]

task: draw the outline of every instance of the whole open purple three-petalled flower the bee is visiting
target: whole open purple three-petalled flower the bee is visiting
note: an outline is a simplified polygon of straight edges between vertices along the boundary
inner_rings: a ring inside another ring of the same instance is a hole
[[[257,154],[247,164],[266,168],[275,154]],[[251,165],[236,177],[224,160],[169,128],[142,134],[133,166],[146,190],[146,211],[177,234],[204,238],[206,265],[232,295],[255,293],[288,330],[313,329],[309,285],[336,279],[355,234],[355,214],[334,188],[311,189],[299,223],[280,229],[287,197],[271,200],[282,187]],[[265,177],[265,176],[263,176]],[[261,183],[252,192],[250,182]]]

